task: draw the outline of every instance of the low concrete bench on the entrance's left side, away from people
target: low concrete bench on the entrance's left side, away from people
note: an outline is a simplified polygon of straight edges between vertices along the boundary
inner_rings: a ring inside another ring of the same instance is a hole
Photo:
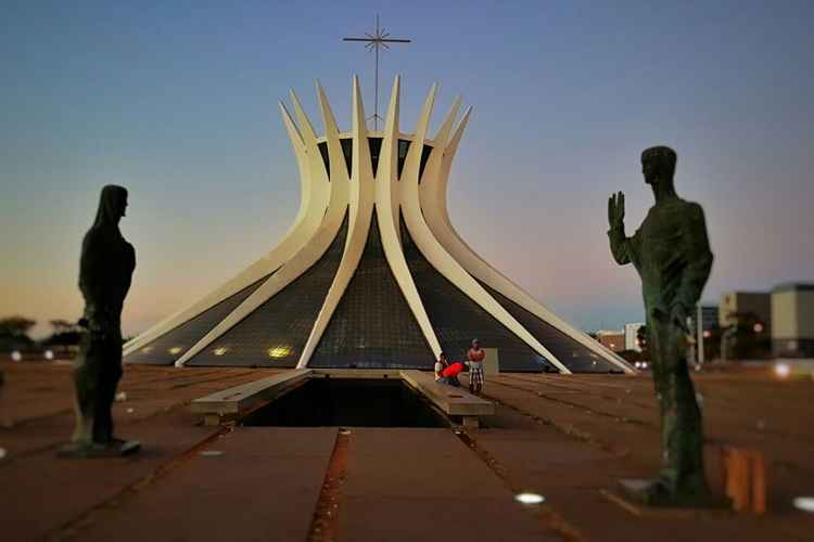
[[[196,414],[203,414],[206,425],[218,425],[224,420],[244,413],[258,402],[276,399],[281,393],[305,383],[311,372],[310,369],[296,369],[216,391],[193,400],[190,409]]]

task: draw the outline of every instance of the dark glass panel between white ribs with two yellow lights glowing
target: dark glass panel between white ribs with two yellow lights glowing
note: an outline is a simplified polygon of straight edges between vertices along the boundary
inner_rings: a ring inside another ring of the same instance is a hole
[[[190,359],[188,365],[293,367],[336,274],[347,237],[347,216],[322,257]]]

